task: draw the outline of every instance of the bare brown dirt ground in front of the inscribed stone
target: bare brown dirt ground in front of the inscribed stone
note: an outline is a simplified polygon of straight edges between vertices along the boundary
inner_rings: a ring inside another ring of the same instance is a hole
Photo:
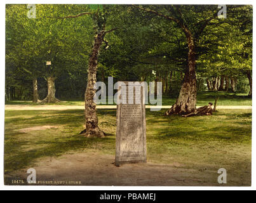
[[[39,185],[101,185],[101,186],[172,186],[172,185],[216,185],[216,171],[185,169],[179,163],[125,164],[114,166],[114,155],[96,152],[66,154],[37,162],[36,179]],[[6,180],[27,180],[27,169],[9,174]],[[19,178],[17,178],[19,177]],[[38,182],[39,181],[39,182]],[[57,182],[56,182],[57,181]],[[65,181],[65,182],[62,182]],[[72,183],[69,181],[73,181]],[[76,181],[78,184],[76,184]],[[80,182],[80,183],[79,183]]]

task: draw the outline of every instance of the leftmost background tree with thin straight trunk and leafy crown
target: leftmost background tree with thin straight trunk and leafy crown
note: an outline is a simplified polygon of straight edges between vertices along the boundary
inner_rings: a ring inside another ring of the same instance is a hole
[[[6,6],[6,63],[16,67],[15,73],[28,77],[32,84],[33,103],[39,103],[37,77],[41,75],[39,44],[35,22],[27,18],[27,9],[21,5]],[[28,32],[29,30],[29,32]],[[40,44],[41,45],[41,44]]]

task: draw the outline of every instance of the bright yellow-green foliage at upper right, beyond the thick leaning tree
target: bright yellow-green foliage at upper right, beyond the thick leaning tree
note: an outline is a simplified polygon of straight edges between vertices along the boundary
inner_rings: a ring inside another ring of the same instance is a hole
[[[212,22],[200,43],[200,75],[243,77],[252,70],[252,7],[231,6],[228,18]]]

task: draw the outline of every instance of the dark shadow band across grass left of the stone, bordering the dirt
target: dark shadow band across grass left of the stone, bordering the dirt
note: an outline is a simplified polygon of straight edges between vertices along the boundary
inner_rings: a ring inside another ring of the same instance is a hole
[[[17,169],[22,169],[24,167],[30,166],[35,162],[36,159],[42,157],[58,157],[66,152],[72,150],[81,150],[81,149],[90,149],[95,148],[97,144],[104,144],[100,145],[98,150],[109,150],[109,145],[114,145],[113,138],[84,138],[83,136],[71,136],[69,138],[58,138],[51,141],[37,141],[33,143],[34,145],[42,145],[48,144],[49,147],[39,148],[39,149],[32,149],[29,151],[21,151],[17,149],[21,149],[24,146],[24,142],[7,142],[5,148],[8,148],[8,152],[5,152],[6,155],[14,152],[15,155],[11,155],[8,159],[4,159],[4,171],[6,174],[10,171],[15,171]]]

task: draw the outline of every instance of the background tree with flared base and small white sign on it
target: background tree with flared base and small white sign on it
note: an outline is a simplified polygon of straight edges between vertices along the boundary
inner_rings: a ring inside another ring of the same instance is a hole
[[[47,5],[48,6],[48,5]],[[66,18],[76,18],[78,16],[57,16],[63,12],[79,12],[86,6],[79,5],[50,5],[50,8],[43,7],[48,13],[44,16],[46,22],[49,23],[49,29],[44,42],[48,44],[44,49],[44,79],[47,81],[48,94],[41,103],[58,103],[61,102],[55,96],[55,81],[65,73],[71,74],[74,69],[80,69],[84,66],[84,60],[88,58],[88,45],[84,41],[88,40],[88,34],[91,28],[83,27],[88,22],[87,18],[79,18],[79,20],[67,20]],[[72,10],[72,9],[73,10]],[[54,26],[53,26],[54,25]],[[65,29],[64,29],[65,28]],[[91,37],[90,37],[91,38]],[[83,53],[83,55],[81,54]],[[48,62],[46,64],[46,61]]]

